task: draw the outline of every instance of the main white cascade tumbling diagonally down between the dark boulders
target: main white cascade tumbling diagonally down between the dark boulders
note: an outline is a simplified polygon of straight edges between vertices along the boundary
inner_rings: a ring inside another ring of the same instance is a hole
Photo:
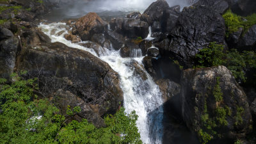
[[[93,49],[72,44],[64,38],[68,33],[65,23],[40,24],[39,28],[48,35],[52,42],[61,42],[68,47],[82,49],[97,56]],[[51,35],[52,29],[54,34]],[[58,32],[65,31],[60,36]],[[126,113],[135,110],[139,116],[137,126],[143,143],[162,143],[163,137],[163,100],[159,87],[144,70],[141,50],[133,51],[134,58],[122,58],[120,51],[105,49],[99,58],[106,61],[120,76],[120,86],[124,91],[124,108]],[[97,56],[98,57],[98,56]],[[139,72],[138,72],[139,71]]]

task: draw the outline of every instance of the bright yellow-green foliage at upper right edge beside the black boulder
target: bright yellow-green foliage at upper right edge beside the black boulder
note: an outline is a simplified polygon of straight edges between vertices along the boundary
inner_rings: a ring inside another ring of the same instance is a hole
[[[254,24],[256,24],[256,13],[247,17],[241,17],[228,10],[224,13],[223,18],[225,19],[225,25],[227,27],[226,36],[238,31],[239,28],[244,28],[243,33],[248,31]]]

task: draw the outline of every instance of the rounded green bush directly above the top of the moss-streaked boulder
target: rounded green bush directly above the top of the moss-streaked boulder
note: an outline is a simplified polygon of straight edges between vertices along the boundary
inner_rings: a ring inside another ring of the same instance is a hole
[[[224,45],[216,44],[212,42],[208,47],[201,49],[195,56],[196,67],[212,67],[216,65],[221,65],[223,63],[223,53]]]

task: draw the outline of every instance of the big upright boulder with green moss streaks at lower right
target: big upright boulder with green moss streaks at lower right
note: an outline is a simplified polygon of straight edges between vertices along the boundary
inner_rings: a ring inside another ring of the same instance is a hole
[[[226,67],[187,69],[181,82],[182,116],[201,139],[236,140],[252,130],[246,95]]]

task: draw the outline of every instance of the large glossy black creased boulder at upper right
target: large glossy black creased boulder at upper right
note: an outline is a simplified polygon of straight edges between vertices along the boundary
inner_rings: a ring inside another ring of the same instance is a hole
[[[211,42],[224,43],[225,21],[212,8],[185,8],[177,25],[165,40],[156,44],[162,56],[171,56],[181,65],[191,67],[193,57]]]

